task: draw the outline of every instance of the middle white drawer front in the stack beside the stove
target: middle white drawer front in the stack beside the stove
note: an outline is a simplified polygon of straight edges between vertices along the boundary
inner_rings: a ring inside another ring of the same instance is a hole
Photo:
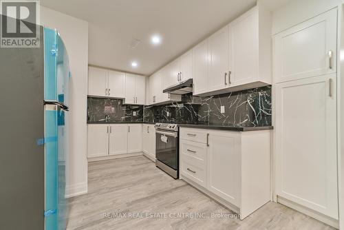
[[[198,160],[206,160],[206,144],[195,143],[190,140],[182,140],[180,142],[180,153],[192,156]]]

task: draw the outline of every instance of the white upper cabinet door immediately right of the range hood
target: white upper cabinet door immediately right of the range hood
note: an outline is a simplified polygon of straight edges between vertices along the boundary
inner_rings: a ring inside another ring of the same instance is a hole
[[[202,41],[194,48],[193,94],[202,94],[207,90],[208,81],[208,40]]]

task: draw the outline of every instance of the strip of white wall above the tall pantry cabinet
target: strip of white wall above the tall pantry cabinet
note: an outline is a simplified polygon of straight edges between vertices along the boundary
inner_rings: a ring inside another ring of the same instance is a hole
[[[294,25],[330,10],[341,0],[293,0],[272,12],[272,34],[277,34]]]

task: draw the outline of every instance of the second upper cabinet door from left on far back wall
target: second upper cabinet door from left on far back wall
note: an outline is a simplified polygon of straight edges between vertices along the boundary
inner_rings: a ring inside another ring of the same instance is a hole
[[[110,97],[125,97],[125,73],[109,70],[109,91]]]

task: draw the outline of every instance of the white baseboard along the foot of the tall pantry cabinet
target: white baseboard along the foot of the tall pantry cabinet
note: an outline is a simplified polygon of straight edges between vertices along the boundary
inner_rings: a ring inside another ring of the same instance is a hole
[[[328,224],[331,227],[339,229],[339,221],[335,220],[334,218],[325,216],[324,214],[309,209],[308,207],[303,207],[302,205],[292,202],[291,200],[288,200],[286,198],[282,198],[281,196],[277,196],[277,202],[281,203],[282,205],[286,205],[292,209],[295,209],[301,213],[304,213],[305,215],[310,216],[316,220],[324,222],[325,224]]]

